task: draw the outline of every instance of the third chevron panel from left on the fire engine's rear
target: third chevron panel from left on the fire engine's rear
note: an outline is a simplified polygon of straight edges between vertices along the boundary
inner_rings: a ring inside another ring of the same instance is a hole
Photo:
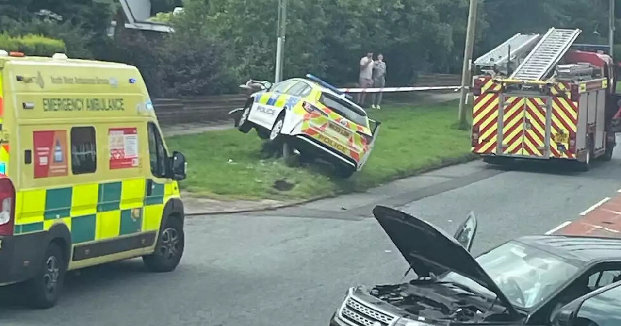
[[[542,97],[524,97],[524,122],[530,125],[524,129],[524,155],[543,156],[545,153],[546,101]]]

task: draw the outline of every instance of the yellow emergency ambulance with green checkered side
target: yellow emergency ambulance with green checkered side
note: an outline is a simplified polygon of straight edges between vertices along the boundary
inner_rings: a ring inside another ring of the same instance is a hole
[[[47,308],[71,269],[178,265],[186,159],[134,66],[0,50],[0,150],[0,286]]]

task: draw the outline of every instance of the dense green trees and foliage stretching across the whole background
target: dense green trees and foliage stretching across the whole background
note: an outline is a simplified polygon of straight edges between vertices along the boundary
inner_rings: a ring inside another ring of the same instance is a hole
[[[550,27],[580,28],[578,42],[607,43],[607,0],[478,1],[475,57],[516,32]],[[351,84],[368,51],[384,54],[392,85],[412,83],[420,73],[460,73],[468,3],[288,0],[284,77],[313,73]],[[63,40],[71,57],[137,65],[161,96],[217,94],[248,78],[273,79],[278,0],[184,0],[183,13],[170,13],[181,5],[152,0],[152,20],[176,30],[163,37],[106,37],[119,9],[114,0],[12,1],[0,5],[0,29]]]

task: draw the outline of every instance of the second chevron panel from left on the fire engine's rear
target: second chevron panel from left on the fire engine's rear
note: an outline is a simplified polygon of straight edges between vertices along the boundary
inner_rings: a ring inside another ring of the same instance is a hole
[[[505,97],[502,111],[502,153],[524,155],[524,97]]]

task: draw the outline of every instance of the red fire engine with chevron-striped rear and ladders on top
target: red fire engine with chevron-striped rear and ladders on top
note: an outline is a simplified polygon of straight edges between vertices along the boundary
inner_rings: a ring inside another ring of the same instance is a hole
[[[508,71],[510,78],[498,69],[481,69],[474,76],[473,153],[488,163],[506,158],[578,160],[581,170],[598,156],[610,159],[614,134],[607,132],[606,111],[614,64],[601,53],[570,50],[580,32],[548,30],[532,51],[516,53],[521,63]],[[498,57],[499,48],[492,52]]]

